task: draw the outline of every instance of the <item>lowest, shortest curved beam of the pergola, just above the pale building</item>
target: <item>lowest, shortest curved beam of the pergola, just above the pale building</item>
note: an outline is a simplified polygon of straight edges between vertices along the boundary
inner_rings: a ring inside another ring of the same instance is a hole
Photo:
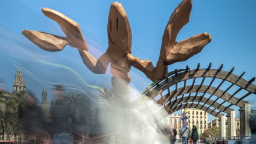
[[[201,107],[202,107],[202,109],[200,109]],[[220,116],[224,116],[222,113],[218,113],[216,111],[213,111],[212,109],[207,109],[206,106],[203,106],[203,105],[200,105],[200,104],[192,104],[192,103],[186,103],[186,104],[180,104],[180,105],[177,105],[177,106],[173,106],[172,109],[168,110],[167,112],[169,114],[172,114],[175,111],[182,110],[182,109],[185,109],[185,108],[199,109],[199,110],[205,111],[207,113],[211,113],[211,115],[214,116],[214,117],[219,117],[220,118]]]

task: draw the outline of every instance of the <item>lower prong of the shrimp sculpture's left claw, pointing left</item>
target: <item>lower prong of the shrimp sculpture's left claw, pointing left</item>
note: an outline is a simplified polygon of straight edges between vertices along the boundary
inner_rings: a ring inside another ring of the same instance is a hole
[[[25,29],[22,34],[45,51],[61,51],[68,44],[66,38],[49,33]]]

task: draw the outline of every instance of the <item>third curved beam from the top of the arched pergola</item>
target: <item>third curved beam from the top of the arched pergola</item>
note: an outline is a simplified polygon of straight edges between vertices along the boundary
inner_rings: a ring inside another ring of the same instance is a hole
[[[182,104],[182,103],[187,103],[187,102],[199,102],[199,103],[204,103],[204,104],[207,104],[207,105],[211,105],[214,101],[209,99],[207,101],[207,98],[203,98],[203,97],[200,97],[200,96],[190,96],[190,97],[183,97],[183,98],[179,98],[179,99],[175,99],[173,101],[171,101],[170,103],[168,103],[167,105],[165,105],[165,109],[168,111],[170,109],[170,107],[173,107],[173,106],[176,106],[176,105],[179,105],[179,104]],[[223,105],[220,105],[219,103],[214,103],[212,105],[212,107],[216,108],[217,110],[219,111],[222,111],[222,112],[225,112],[225,113],[230,113],[230,111],[234,111],[234,109],[226,109],[225,106]]]

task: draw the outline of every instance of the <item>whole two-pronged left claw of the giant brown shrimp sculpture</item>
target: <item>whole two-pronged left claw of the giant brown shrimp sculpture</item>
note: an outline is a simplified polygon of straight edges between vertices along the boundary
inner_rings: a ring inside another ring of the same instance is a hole
[[[77,22],[53,9],[43,8],[42,11],[60,25],[67,38],[29,30],[22,31],[22,34],[45,51],[61,51],[67,44],[79,51],[88,51],[88,45]]]

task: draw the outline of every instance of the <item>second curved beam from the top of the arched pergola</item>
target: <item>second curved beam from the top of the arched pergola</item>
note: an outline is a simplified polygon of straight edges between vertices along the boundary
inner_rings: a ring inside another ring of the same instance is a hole
[[[200,86],[200,85],[195,85],[195,86],[186,86],[186,87],[181,87],[178,89],[174,89],[173,91],[171,91],[170,93],[165,94],[162,98],[160,98],[159,100],[156,101],[156,103],[158,104],[166,104],[168,101],[170,101],[173,98],[178,97],[179,95],[182,94],[187,94],[187,93],[195,93],[195,92],[199,92],[199,93],[208,93],[208,94],[213,94],[219,98],[222,98],[225,101],[228,101],[229,103],[239,106],[239,107],[243,107],[246,103],[248,103],[248,101],[245,100],[239,100],[236,97],[232,97],[231,94],[222,91],[221,89],[216,89],[216,87],[209,87],[209,86]],[[238,101],[238,103],[237,103]]]

